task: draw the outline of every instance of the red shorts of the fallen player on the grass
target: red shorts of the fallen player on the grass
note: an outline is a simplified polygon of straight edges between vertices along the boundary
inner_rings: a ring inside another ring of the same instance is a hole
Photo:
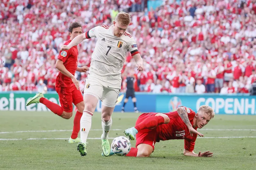
[[[139,116],[137,119],[135,125],[138,125],[140,122],[145,120],[146,118],[150,116],[155,116],[157,113],[143,113],[142,115]],[[157,128],[154,129],[143,129],[139,131],[136,134],[136,148],[139,144],[145,143],[153,147],[153,150],[155,149],[155,143],[156,143],[156,137],[157,137]]]

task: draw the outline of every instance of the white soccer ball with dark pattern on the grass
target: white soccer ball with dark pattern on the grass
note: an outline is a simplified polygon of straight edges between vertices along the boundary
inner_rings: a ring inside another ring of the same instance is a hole
[[[116,137],[111,143],[113,152],[119,156],[124,156],[131,150],[131,142],[124,136]]]

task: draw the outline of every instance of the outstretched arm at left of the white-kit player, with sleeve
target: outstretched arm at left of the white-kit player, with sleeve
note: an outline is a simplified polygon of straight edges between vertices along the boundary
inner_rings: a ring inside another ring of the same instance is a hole
[[[80,35],[76,36],[68,45],[62,45],[61,46],[61,51],[62,50],[69,50],[71,47],[80,44],[85,39],[90,39],[92,37],[96,38],[97,35],[98,35],[98,27],[99,26],[94,27],[91,30],[89,30],[89,31],[87,31],[83,34],[80,34]]]

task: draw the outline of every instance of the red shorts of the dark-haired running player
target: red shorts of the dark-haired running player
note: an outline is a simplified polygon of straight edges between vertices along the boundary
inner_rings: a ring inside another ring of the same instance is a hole
[[[73,104],[75,105],[83,101],[83,95],[76,86],[72,87],[55,87],[59,95],[61,107],[65,112],[73,112]]]

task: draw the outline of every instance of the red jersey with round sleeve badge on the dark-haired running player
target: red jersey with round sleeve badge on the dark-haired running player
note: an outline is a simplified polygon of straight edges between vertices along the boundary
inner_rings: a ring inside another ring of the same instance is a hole
[[[66,41],[64,45],[68,45],[71,40]],[[65,68],[72,74],[75,75],[77,69],[77,62],[78,62],[78,50],[77,46],[70,48],[69,50],[60,51],[58,59],[63,62]],[[57,79],[56,79],[56,87],[71,87],[75,86],[72,82],[71,78],[65,76],[61,72],[59,72]]]

